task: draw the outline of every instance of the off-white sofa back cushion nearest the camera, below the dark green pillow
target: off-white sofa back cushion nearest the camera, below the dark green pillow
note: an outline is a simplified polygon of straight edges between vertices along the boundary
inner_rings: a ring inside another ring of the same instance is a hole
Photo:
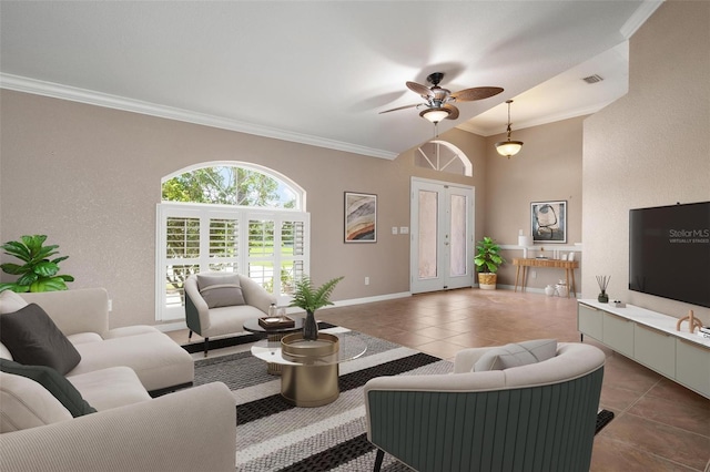
[[[72,415],[32,379],[0,371],[0,433],[71,420]]]

